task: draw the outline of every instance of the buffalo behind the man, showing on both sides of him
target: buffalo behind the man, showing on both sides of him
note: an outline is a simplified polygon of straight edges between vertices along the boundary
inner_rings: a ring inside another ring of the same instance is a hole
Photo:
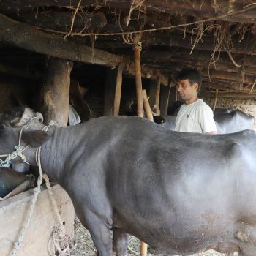
[[[218,110],[214,113],[214,121],[217,133],[225,134],[253,129],[255,118],[241,110]],[[154,122],[174,131],[176,116],[154,116]]]

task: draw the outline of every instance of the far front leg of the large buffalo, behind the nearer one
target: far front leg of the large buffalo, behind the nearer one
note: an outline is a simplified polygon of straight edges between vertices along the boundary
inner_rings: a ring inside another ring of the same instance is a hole
[[[118,228],[113,228],[113,249],[116,256],[125,256],[128,246],[128,234]]]

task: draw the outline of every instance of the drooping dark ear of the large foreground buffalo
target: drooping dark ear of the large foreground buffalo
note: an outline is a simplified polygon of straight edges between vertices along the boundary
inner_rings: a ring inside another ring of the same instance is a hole
[[[38,148],[42,145],[42,143],[45,143],[46,141],[50,140],[52,138],[53,133],[52,132],[45,132],[45,131],[29,131],[29,132],[23,132],[22,134],[22,140],[29,144],[32,148]]]

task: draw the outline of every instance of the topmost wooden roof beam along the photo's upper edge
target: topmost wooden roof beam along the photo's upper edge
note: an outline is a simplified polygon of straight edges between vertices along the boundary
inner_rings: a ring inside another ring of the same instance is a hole
[[[1,12],[18,12],[19,10],[27,10],[33,7],[76,7],[78,6],[78,0],[44,0],[43,4],[40,0],[2,0],[0,1],[0,10]],[[146,7],[146,12],[151,11],[160,11],[170,14],[180,13],[182,15],[194,16],[197,18],[211,18],[217,17],[219,15],[227,15],[230,12],[237,12],[242,10],[248,4],[251,4],[252,1],[214,1],[214,4],[211,1],[193,1],[191,4],[186,0],[173,0],[173,1],[162,1],[162,0],[147,0],[143,2],[143,7]],[[99,7],[113,7],[113,8],[124,8],[124,10],[129,10],[131,2],[129,0],[82,0],[80,2],[80,7],[89,7],[97,6]],[[238,15],[230,15],[226,17],[219,18],[220,20],[229,20],[234,22],[241,23],[255,23],[255,12],[253,10],[248,10]]]

